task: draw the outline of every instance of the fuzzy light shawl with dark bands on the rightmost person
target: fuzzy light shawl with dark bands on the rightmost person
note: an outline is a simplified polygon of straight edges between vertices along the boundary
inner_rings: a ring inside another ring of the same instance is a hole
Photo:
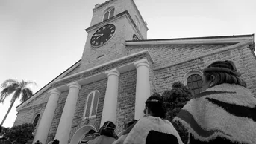
[[[222,137],[234,143],[256,143],[255,105],[247,88],[216,85],[187,102],[174,121],[203,142]]]

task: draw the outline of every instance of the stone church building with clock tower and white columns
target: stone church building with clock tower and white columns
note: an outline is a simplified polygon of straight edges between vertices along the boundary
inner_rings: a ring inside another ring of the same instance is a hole
[[[254,35],[147,39],[148,30],[134,0],[96,4],[81,60],[19,105],[14,125],[33,123],[34,141],[43,144],[81,143],[106,121],[120,134],[143,117],[151,94],[173,82],[199,94],[202,69],[217,60],[234,61],[256,96]]]

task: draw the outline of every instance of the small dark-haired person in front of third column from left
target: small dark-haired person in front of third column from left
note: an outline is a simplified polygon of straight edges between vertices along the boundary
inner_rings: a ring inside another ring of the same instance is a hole
[[[88,141],[88,144],[112,144],[116,139],[116,125],[113,122],[104,122],[104,125],[99,130],[100,136]]]

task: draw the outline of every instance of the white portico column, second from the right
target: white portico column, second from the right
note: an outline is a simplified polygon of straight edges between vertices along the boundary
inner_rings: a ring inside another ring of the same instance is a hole
[[[116,123],[116,108],[118,96],[118,82],[120,73],[113,69],[107,71],[107,89],[104,97],[101,125],[106,121]]]

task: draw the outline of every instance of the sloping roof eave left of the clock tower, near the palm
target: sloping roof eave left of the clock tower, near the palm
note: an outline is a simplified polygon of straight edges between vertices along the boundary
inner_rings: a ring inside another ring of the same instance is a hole
[[[25,102],[22,102],[21,104],[19,104],[18,106],[16,106],[17,111],[19,111],[22,107],[24,107],[25,105],[27,105],[29,102],[31,102],[33,99],[37,98],[37,96],[40,96],[41,94],[43,94],[44,91],[46,91],[47,89],[51,88],[51,83],[63,78],[64,76],[66,76],[66,74],[68,74],[70,71],[74,70],[76,67],[78,67],[78,65],[81,64],[81,59],[78,60],[78,62],[75,62],[74,65],[72,65],[71,67],[69,67],[68,69],[66,69],[66,71],[63,71],[63,73],[60,73],[60,75],[58,75],[56,78],[52,79],[51,82],[49,82],[48,84],[46,84],[43,88],[41,88],[39,91],[37,91],[35,94],[33,94],[33,96],[31,96],[29,99],[27,99]]]

